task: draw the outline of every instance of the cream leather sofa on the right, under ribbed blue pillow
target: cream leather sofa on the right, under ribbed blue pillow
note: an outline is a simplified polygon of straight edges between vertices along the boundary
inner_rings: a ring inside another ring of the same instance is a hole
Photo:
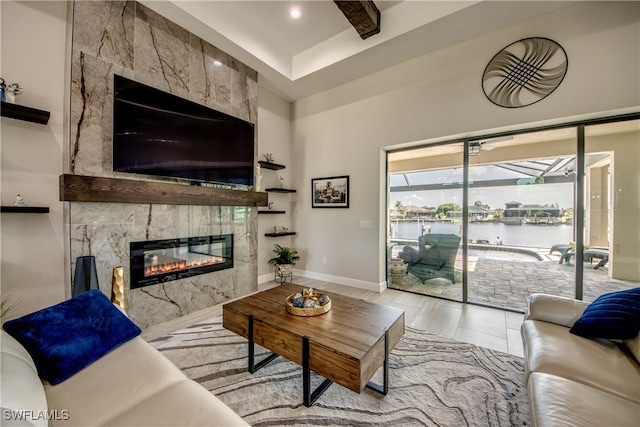
[[[521,332],[534,426],[640,426],[640,339],[570,333],[588,305],[531,296]]]

